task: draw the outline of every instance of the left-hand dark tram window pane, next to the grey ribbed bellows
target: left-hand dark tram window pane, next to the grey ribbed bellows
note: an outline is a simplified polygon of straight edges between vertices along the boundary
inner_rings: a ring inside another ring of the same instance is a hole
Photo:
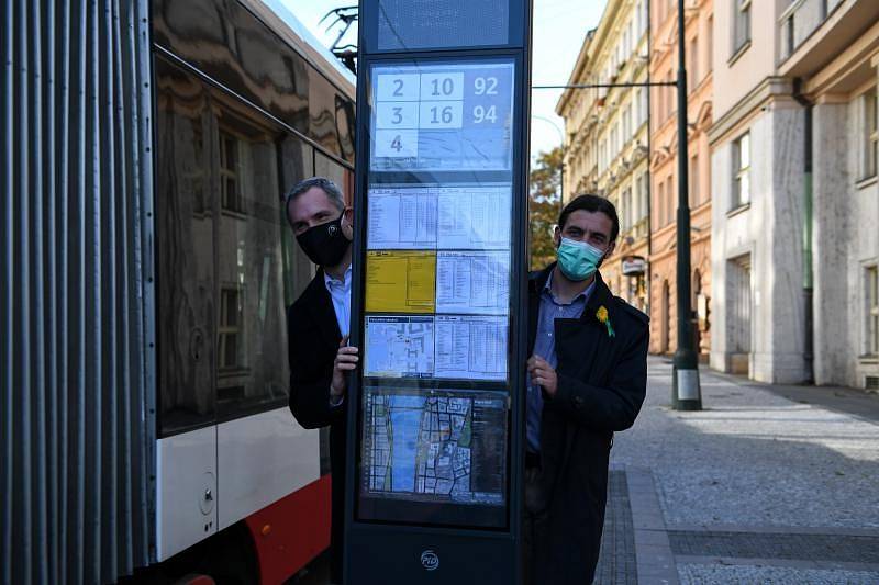
[[[156,60],[158,395],[163,435],[214,421],[210,94]]]

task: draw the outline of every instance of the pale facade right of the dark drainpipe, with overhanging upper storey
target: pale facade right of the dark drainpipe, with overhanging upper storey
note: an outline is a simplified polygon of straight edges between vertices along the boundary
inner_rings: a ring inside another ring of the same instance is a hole
[[[803,191],[812,200],[804,282],[814,290],[808,374],[817,384],[879,389],[879,2],[791,2],[777,32],[778,75],[811,104],[811,121],[802,116],[813,177]]]

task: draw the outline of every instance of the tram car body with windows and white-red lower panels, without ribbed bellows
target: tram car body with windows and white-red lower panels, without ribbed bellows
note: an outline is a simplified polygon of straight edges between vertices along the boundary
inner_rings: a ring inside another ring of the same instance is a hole
[[[321,175],[351,196],[354,155],[352,76],[283,14],[153,8],[157,561],[215,539],[213,566],[251,550],[264,583],[325,549],[330,530],[326,434],[287,406],[285,307],[313,268],[282,194]]]

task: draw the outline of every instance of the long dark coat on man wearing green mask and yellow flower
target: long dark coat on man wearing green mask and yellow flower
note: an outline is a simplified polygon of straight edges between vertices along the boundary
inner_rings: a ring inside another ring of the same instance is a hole
[[[528,279],[528,356],[539,297],[555,265]],[[548,536],[537,542],[538,583],[592,583],[608,496],[613,432],[631,427],[647,386],[648,317],[614,297],[601,275],[578,319],[556,319],[558,387],[544,395],[541,460],[548,494]],[[600,307],[614,329],[599,322]]]

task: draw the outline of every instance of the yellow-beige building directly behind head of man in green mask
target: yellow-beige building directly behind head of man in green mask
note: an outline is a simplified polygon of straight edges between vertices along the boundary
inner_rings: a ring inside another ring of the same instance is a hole
[[[647,11],[647,0],[610,0],[587,35],[569,85],[645,83]],[[601,273],[614,294],[645,312],[648,99],[638,87],[567,89],[556,106],[565,119],[565,198],[592,192],[616,206],[620,237]]]

